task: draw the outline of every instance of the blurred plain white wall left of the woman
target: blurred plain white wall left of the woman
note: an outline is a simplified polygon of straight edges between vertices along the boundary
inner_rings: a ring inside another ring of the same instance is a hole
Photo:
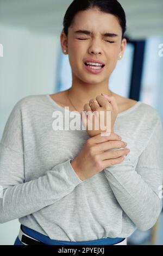
[[[15,103],[24,96],[54,93],[59,36],[0,26],[0,139]],[[0,224],[0,245],[13,245],[18,220]]]

